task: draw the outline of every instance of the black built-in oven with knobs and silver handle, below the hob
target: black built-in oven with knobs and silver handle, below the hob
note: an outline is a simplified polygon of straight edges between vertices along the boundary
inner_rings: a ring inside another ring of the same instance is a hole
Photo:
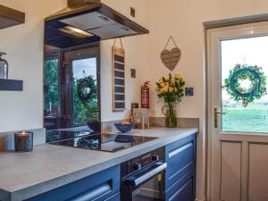
[[[121,164],[121,201],[163,201],[163,148]]]

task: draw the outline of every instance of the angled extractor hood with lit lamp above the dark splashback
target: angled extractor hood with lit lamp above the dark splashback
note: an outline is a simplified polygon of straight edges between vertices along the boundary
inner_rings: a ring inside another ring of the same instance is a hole
[[[68,7],[46,18],[46,26],[64,34],[76,33],[76,37],[84,35],[84,39],[93,41],[149,33],[100,0],[68,0]]]

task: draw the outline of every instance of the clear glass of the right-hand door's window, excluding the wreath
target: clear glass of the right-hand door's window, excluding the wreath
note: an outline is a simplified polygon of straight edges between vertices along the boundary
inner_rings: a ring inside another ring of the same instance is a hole
[[[268,96],[255,98],[253,102],[234,100],[226,88],[230,71],[241,66],[262,67],[264,76],[268,75],[268,37],[239,38],[221,41],[222,49],[222,131],[266,132],[268,133]],[[250,72],[249,72],[250,73]],[[251,92],[257,85],[254,76],[247,73],[238,75],[235,88],[241,93]],[[264,87],[266,88],[266,81]],[[239,93],[238,93],[239,94]]]

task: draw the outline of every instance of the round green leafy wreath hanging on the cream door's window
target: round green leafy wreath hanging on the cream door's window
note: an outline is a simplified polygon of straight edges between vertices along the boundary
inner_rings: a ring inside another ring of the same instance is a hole
[[[266,79],[262,67],[236,64],[230,70],[229,77],[224,80],[223,88],[230,95],[230,99],[242,101],[242,105],[246,107],[248,104],[260,99],[267,94]],[[241,80],[249,80],[249,88],[243,88],[240,84]]]

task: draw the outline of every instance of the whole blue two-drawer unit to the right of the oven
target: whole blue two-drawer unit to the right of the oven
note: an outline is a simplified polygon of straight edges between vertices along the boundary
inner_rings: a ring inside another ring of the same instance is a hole
[[[165,147],[165,200],[193,201],[196,198],[197,135]]]

